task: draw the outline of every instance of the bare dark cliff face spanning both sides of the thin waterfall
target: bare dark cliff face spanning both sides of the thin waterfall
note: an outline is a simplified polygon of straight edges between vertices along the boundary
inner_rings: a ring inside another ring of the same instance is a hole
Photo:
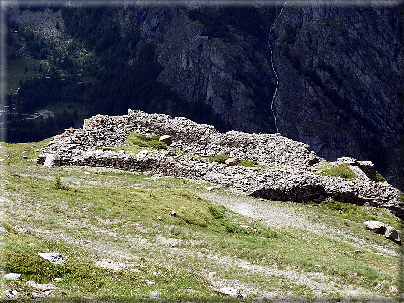
[[[158,79],[182,97],[209,104],[229,129],[275,132],[267,40],[277,19],[269,44],[279,132],[328,160],[371,159],[402,186],[403,6],[288,1],[281,15],[280,6],[256,9],[254,33],[228,25],[222,10],[128,8],[119,20],[123,35],[140,27],[143,41],[156,43]],[[209,35],[206,14],[225,20],[223,37]]]

